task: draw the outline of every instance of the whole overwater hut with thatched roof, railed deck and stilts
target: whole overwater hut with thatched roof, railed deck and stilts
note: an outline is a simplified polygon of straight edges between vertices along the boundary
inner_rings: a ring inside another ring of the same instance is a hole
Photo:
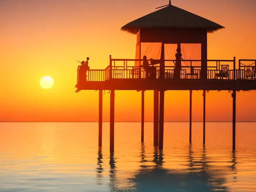
[[[223,29],[215,22],[171,5],[121,27],[137,35],[135,59],[113,59],[106,69],[78,77],[77,92],[99,90],[99,146],[102,145],[102,90],[110,92],[110,151],[114,151],[115,90],[141,91],[141,141],[144,141],[144,91],[154,90],[154,145],[163,149],[164,92],[190,91],[189,142],[192,127],[192,90],[203,90],[203,143],[205,143],[206,90],[228,90],[233,97],[233,150],[236,134],[236,91],[256,89],[255,61],[207,59],[207,33]],[[176,56],[175,56],[176,55]],[[143,56],[144,60],[141,58]],[[149,59],[150,58],[150,59]],[[242,62],[251,62],[250,66]],[[146,66],[148,65],[148,66]],[[146,68],[147,67],[147,68]],[[248,68],[250,67],[250,68]],[[247,72],[246,70],[249,69]],[[151,70],[151,71],[150,71]],[[154,75],[152,76],[153,72]],[[147,73],[152,73],[148,76]],[[149,78],[150,77],[150,78]]]

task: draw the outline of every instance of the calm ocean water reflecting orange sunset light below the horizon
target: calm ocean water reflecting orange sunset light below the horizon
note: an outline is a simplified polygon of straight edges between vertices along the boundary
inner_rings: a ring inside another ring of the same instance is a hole
[[[164,150],[153,147],[153,123],[109,123],[103,146],[97,123],[0,123],[0,191],[256,191],[256,123],[164,124]]]

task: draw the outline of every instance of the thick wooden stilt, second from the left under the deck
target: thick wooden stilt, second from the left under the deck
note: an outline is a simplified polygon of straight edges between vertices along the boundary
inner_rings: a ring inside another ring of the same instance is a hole
[[[110,152],[114,152],[115,90],[110,92]]]

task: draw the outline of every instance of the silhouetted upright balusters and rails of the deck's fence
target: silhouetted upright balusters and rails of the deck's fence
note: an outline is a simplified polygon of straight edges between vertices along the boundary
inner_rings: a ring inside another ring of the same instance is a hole
[[[110,57],[110,65],[106,67],[106,69],[91,69],[88,71],[88,81],[105,81],[109,80],[111,78],[117,78],[117,79],[130,79],[130,78],[145,78],[144,74],[144,68],[142,65],[139,66],[132,66],[134,65],[134,62],[139,62],[141,64],[143,60],[134,60],[134,59],[112,59]],[[166,63],[170,64],[174,60],[165,60]],[[194,67],[194,73],[197,73],[197,78],[200,78],[201,73],[201,66],[197,66],[198,63],[201,63],[201,60],[184,60],[187,63],[189,62],[188,66],[182,66],[182,70],[180,71],[180,78],[186,79],[188,78],[186,74],[188,74],[188,70],[191,70],[191,67]],[[239,68],[236,69],[235,66],[235,59],[234,60],[207,60],[207,79],[214,79],[216,78],[216,74],[220,73],[219,70],[221,69],[221,65],[233,65],[229,69],[229,80],[236,80],[240,78],[247,78],[245,76],[245,70],[247,69],[247,66],[243,66],[243,61],[252,61],[253,67],[255,67],[255,61],[256,60],[239,60]],[[113,63],[112,63],[113,62]],[[121,62],[121,63],[120,63]],[[158,61],[157,61],[158,62]],[[233,62],[233,64],[231,63]],[[113,66],[111,67],[111,65]],[[119,65],[121,64],[121,65]],[[130,66],[128,65],[130,64]],[[199,64],[200,65],[200,64]],[[159,74],[159,64],[155,65],[157,68],[157,78]],[[165,66],[165,78],[173,78],[175,66],[172,64],[172,66]],[[81,67],[78,66],[77,68],[77,81],[79,80],[79,69]],[[254,69],[254,68],[253,68]],[[253,74],[255,72],[253,71]],[[253,79],[254,76],[252,77]],[[225,78],[226,79],[226,78]]]

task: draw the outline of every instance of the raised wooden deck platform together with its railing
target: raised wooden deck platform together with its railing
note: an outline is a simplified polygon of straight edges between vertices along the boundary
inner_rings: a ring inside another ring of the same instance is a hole
[[[106,69],[92,69],[87,72],[87,80],[79,80],[80,90],[254,90],[256,89],[256,60],[207,60],[207,79],[202,79],[201,60],[184,60],[185,66],[180,70],[180,78],[176,79],[174,60],[164,60],[169,65],[164,67],[164,77],[160,78],[161,68],[155,65],[157,74],[154,78],[146,78],[143,65],[134,66],[142,60],[112,59]],[[159,60],[155,60],[159,63]],[[243,64],[247,62],[247,65]],[[248,63],[249,62],[249,63]],[[121,64],[120,64],[121,63]],[[130,64],[130,65],[128,65]],[[171,65],[170,65],[171,64]],[[199,65],[199,66],[198,66]],[[227,66],[227,75],[220,74],[223,66]],[[193,73],[191,75],[191,67]],[[248,71],[249,70],[249,71]],[[250,72],[250,73],[248,73]]]

